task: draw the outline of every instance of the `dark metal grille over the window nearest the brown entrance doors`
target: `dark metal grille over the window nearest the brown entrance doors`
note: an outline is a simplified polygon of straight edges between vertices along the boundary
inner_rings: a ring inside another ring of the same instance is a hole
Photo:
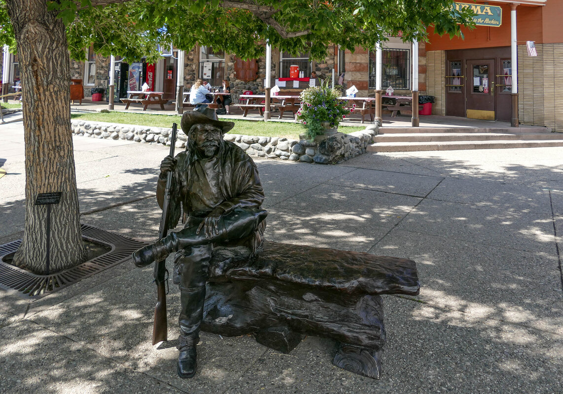
[[[386,48],[382,52],[381,87],[410,89],[410,50]],[[376,88],[376,76],[376,51],[369,51],[369,89]]]

